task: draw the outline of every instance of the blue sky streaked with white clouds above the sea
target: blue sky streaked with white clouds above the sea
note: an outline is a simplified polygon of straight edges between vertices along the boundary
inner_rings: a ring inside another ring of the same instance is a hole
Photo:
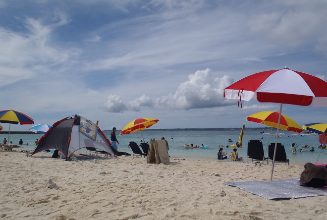
[[[327,80],[326,10],[326,0],[0,0],[0,109],[35,124],[78,114],[102,130],[140,117],[159,119],[152,128],[265,127],[246,116],[278,104],[240,108],[223,89],[285,65]],[[326,110],[282,113],[302,126],[326,122]]]

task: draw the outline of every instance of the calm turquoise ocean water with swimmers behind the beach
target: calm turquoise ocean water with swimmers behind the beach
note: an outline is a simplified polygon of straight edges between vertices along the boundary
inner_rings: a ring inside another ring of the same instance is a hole
[[[264,149],[266,149],[267,142],[269,139],[270,129],[265,129],[264,134],[259,134],[260,130],[249,130],[246,129],[243,136],[243,148],[237,149],[240,157],[243,157],[246,161],[247,158],[247,142],[251,139],[260,139],[264,137],[262,140]],[[149,142],[151,138],[161,139],[164,137],[169,144],[169,156],[170,159],[192,159],[192,160],[205,160],[205,161],[216,161],[217,160],[217,152],[218,145],[223,145],[223,151],[231,153],[233,148],[226,148],[226,145],[231,145],[233,143],[227,142],[228,139],[234,141],[234,143],[238,140],[240,129],[235,130],[214,130],[214,129],[148,129],[142,132],[135,132],[134,134],[127,134],[119,136],[120,131],[117,131],[117,139],[119,141],[118,151],[127,152],[133,154],[132,150],[128,148],[128,143],[130,141],[135,141],[137,144],[141,143],[142,135],[144,141]],[[110,138],[111,131],[104,131],[105,135]],[[294,135],[294,133],[288,131],[281,131],[278,135],[281,138],[278,139],[278,143],[282,143],[286,150],[287,158],[290,160],[290,165],[300,164],[303,165],[305,163],[315,163],[318,159],[319,151],[319,135],[316,134],[298,134]],[[0,140],[3,140],[3,137],[8,138],[7,134],[1,134]],[[35,148],[34,142],[38,138],[40,139],[42,134],[10,134],[10,141],[13,144],[17,144],[20,139],[23,140],[24,144],[28,143],[29,145],[23,145],[21,150],[33,150]],[[270,143],[274,143],[276,138],[276,130],[272,131],[272,136],[270,138]],[[297,153],[291,153],[291,144],[296,142],[299,147],[297,148]],[[207,145],[208,149],[187,149],[184,148],[184,144],[194,144],[195,145]],[[309,149],[303,149],[305,152],[300,153],[299,149],[302,145],[307,144],[310,147],[315,148],[315,152],[310,152]],[[322,149],[322,153],[320,155],[319,161],[320,163],[327,164],[327,149]],[[268,152],[267,152],[268,155]]]

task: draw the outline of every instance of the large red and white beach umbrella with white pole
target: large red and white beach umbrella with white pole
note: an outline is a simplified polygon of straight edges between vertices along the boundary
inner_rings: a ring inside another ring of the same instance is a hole
[[[252,98],[261,103],[278,103],[279,116],[277,135],[272,160],[272,173],[278,143],[280,116],[283,104],[298,106],[327,106],[327,82],[313,75],[284,69],[269,70],[247,76],[224,89],[223,96],[227,99],[236,99],[238,105],[242,100]]]

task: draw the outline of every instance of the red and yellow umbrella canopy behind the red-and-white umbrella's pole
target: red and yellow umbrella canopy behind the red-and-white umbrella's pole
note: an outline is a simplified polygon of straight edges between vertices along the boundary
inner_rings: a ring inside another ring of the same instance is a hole
[[[246,117],[246,120],[277,128],[279,113],[277,111],[260,111]],[[292,118],[281,114],[279,129],[301,133],[303,129]]]

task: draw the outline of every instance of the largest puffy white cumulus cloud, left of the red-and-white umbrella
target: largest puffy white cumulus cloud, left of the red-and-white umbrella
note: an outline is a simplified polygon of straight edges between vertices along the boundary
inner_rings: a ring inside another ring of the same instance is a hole
[[[188,76],[189,80],[181,83],[174,94],[169,93],[156,100],[156,106],[168,106],[171,109],[201,109],[223,106],[223,89],[233,79],[224,75],[215,78],[211,69],[198,70]]]

